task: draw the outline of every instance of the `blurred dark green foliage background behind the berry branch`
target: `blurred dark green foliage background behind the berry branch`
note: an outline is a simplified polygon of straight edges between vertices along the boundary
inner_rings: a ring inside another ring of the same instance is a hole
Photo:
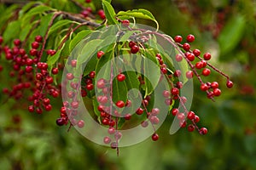
[[[100,1],[94,3],[100,8]],[[0,169],[256,169],[256,1],[113,0],[113,6],[148,9],[171,36],[194,34],[193,47],[211,52],[212,64],[231,76],[231,89],[218,74],[208,79],[221,82],[216,102],[194,81],[192,111],[209,133],[181,129],[170,135],[172,120],[166,119],[157,142],[120,148],[116,156],[73,128],[67,133],[67,127],[57,127],[58,110],[38,116],[10,99],[0,106]]]

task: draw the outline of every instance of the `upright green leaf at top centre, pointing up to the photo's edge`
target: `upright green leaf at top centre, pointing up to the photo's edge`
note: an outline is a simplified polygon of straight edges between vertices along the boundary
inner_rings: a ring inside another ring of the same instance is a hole
[[[110,24],[110,25],[118,24],[119,22],[117,20],[115,20],[116,14],[115,14],[114,9],[113,9],[112,5],[110,4],[110,2],[108,2],[106,0],[102,0],[102,7],[105,12],[106,18],[108,20],[108,24]]]

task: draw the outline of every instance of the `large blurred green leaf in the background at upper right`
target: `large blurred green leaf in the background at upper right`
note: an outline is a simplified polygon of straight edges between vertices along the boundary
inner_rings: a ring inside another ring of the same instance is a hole
[[[222,55],[227,54],[236,48],[237,44],[241,41],[245,27],[246,20],[240,14],[236,14],[235,17],[228,21],[218,37],[218,43]]]

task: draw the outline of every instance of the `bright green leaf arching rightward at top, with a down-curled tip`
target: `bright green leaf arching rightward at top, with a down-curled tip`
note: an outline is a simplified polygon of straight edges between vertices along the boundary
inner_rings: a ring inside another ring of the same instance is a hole
[[[128,10],[128,11],[120,11],[117,16],[130,16],[130,17],[136,17],[140,19],[145,19],[145,20],[153,20],[157,26],[159,27],[158,22],[154,19],[154,15],[151,14],[148,10],[139,8],[139,9],[133,9],[133,10]]]

